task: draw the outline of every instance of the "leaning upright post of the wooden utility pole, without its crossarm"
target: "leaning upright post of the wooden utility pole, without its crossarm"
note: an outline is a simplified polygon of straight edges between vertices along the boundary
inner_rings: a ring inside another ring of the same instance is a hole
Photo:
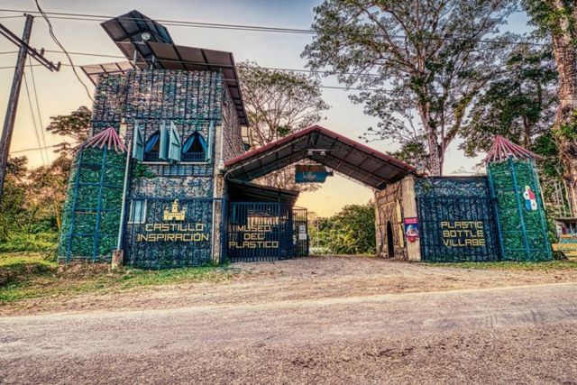
[[[33,20],[34,17],[31,14],[26,14],[26,23],[24,23],[24,32],[22,35],[22,40],[26,44],[30,41]],[[16,61],[16,67],[14,69],[14,78],[12,79],[12,88],[10,89],[10,97],[8,98],[8,108],[6,109],[2,136],[0,136],[0,200],[2,200],[2,196],[4,195],[6,164],[8,162],[8,153],[10,152],[10,142],[12,142],[12,133],[14,131],[14,122],[16,120],[16,110],[18,109],[18,98],[20,97],[20,87],[22,86],[27,53],[27,47],[21,45],[20,50],[18,50],[18,60]]]

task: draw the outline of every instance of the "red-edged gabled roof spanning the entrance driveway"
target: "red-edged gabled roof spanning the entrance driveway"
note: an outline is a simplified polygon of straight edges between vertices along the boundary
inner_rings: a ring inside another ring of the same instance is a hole
[[[224,163],[229,179],[252,180],[282,169],[299,160],[310,159],[347,177],[382,189],[416,169],[380,151],[334,133],[320,125],[248,151]]]

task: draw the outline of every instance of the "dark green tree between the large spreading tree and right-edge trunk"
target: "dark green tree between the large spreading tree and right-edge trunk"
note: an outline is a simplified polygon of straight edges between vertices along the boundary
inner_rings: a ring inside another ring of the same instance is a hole
[[[527,149],[548,133],[554,121],[557,72],[548,47],[519,45],[490,79],[463,124],[461,148],[468,156],[488,151],[495,135]]]

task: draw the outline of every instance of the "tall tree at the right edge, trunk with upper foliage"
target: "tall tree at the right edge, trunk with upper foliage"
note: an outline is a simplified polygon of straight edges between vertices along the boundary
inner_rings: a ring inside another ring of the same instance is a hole
[[[577,215],[577,2],[523,0],[523,4],[538,30],[552,43],[559,73],[554,140],[563,160],[572,215]]]

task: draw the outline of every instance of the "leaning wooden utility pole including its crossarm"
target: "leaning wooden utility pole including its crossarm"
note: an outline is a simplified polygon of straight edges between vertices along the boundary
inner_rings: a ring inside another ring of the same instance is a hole
[[[8,99],[2,136],[0,136],[0,201],[4,195],[6,164],[8,162],[8,153],[10,152],[10,142],[12,142],[12,133],[14,131],[14,121],[16,120],[16,110],[18,108],[18,98],[20,96],[20,87],[22,86],[26,57],[28,55],[32,56],[33,59],[38,60],[44,67],[50,69],[50,71],[60,70],[60,62],[54,65],[51,61],[44,58],[43,49],[39,52],[28,45],[32,33],[33,20],[34,17],[31,14],[26,14],[26,23],[24,23],[22,39],[18,38],[18,36],[14,35],[13,32],[0,23],[0,35],[5,36],[6,39],[20,47],[18,50],[18,60],[16,61],[16,67],[14,69],[14,78]]]

